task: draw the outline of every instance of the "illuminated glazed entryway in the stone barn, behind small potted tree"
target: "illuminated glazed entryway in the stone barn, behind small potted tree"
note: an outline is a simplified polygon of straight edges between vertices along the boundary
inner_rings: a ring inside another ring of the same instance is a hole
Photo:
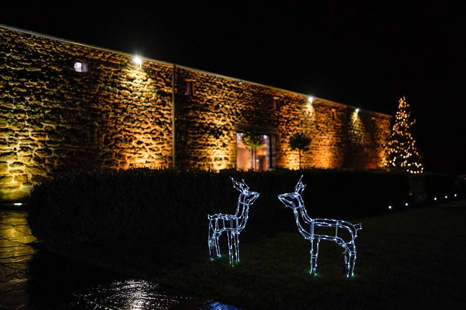
[[[236,133],[236,167],[238,169],[253,169],[264,171],[270,168],[270,135],[262,135],[264,143],[254,149],[243,144],[243,133]]]

